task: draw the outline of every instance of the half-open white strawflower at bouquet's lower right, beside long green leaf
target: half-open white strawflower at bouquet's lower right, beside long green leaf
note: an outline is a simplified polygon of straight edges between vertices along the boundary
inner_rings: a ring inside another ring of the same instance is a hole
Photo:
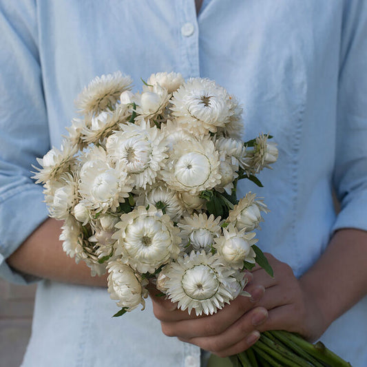
[[[227,262],[227,264],[242,269],[244,261],[255,264],[255,251],[252,245],[258,242],[254,239],[256,233],[245,233],[244,229],[238,231],[233,225],[223,229],[223,235],[220,238],[214,238],[218,254]]]

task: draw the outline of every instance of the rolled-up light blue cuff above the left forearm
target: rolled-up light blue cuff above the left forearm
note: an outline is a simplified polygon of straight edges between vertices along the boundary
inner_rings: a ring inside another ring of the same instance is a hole
[[[42,187],[17,187],[0,201],[0,277],[8,282],[29,284],[39,278],[15,271],[6,259],[48,218]]]

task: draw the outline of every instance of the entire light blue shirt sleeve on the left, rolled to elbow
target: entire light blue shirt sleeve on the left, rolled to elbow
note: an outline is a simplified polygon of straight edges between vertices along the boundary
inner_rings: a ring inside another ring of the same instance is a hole
[[[25,284],[6,258],[48,216],[30,178],[49,149],[34,1],[0,0],[0,276]]]

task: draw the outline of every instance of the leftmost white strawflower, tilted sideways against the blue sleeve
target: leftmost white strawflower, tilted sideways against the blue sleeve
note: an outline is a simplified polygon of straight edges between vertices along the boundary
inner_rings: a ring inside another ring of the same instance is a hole
[[[72,145],[69,140],[63,140],[61,149],[53,147],[43,158],[36,158],[42,168],[34,167],[39,172],[32,172],[36,179],[36,183],[45,183],[48,180],[57,180],[63,172],[70,170],[70,166],[75,160],[75,154],[78,151],[76,145]]]

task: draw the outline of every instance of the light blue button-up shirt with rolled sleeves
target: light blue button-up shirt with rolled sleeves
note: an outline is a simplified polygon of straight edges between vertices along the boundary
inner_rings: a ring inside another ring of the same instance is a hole
[[[367,230],[367,1],[211,0],[198,17],[187,0],[1,0],[0,8],[4,277],[29,280],[5,259],[47,217],[31,165],[60,146],[83,86],[116,70],[136,85],[161,71],[213,78],[240,99],[245,140],[275,136],[280,158],[260,175],[264,188],[244,182],[240,194],[265,198],[260,246],[295,275],[336,229]],[[116,309],[105,289],[39,282],[23,366],[199,365],[199,348],[165,337],[149,302],[112,319]],[[366,367],[367,298],[322,340]]]

